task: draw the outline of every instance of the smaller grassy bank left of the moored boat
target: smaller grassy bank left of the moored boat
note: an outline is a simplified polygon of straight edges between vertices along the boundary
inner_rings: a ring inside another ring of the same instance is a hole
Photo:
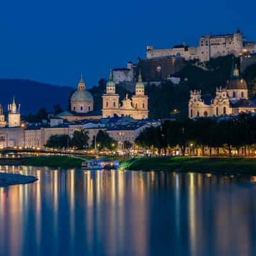
[[[70,156],[39,156],[31,157],[22,162],[24,165],[52,167],[81,167],[84,159]]]

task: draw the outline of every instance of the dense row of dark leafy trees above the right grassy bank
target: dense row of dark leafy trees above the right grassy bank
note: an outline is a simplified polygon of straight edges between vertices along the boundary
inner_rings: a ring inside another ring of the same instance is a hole
[[[188,147],[224,148],[231,155],[232,149],[237,152],[250,152],[256,145],[256,116],[241,114],[233,118],[216,120],[214,118],[180,118],[166,121],[159,127],[149,127],[140,133],[136,144],[143,148],[158,150],[179,146],[182,155]]]

